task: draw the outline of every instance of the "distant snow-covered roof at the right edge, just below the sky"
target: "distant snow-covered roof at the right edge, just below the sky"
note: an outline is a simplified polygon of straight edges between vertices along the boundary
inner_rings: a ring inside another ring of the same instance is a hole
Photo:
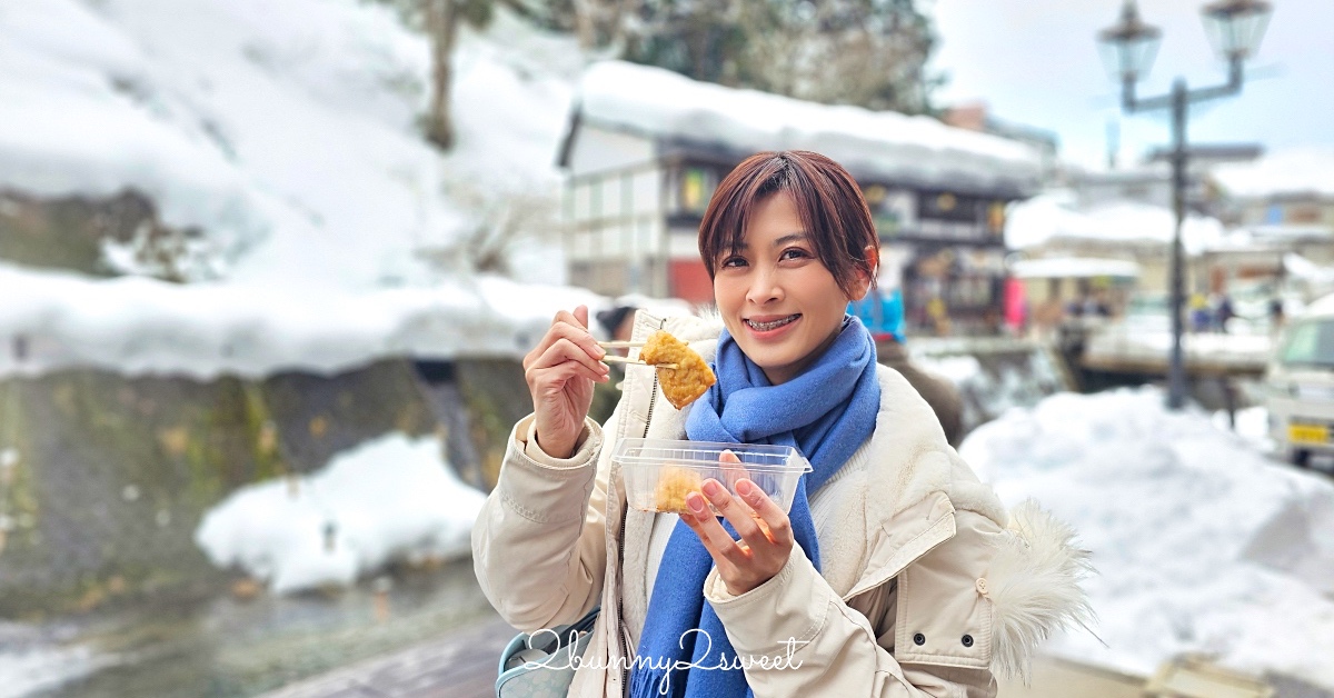
[[[1217,165],[1214,180],[1231,196],[1334,196],[1334,148],[1274,152],[1250,163]]]

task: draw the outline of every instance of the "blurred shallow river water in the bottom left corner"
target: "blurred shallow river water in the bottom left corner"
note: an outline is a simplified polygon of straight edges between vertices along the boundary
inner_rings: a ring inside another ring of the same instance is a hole
[[[490,618],[464,558],[342,591],[8,623],[0,698],[252,697]]]

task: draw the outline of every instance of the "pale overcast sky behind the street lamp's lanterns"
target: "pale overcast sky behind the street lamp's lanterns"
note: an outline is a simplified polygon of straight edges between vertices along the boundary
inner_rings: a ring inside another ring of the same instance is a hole
[[[1270,152],[1334,147],[1334,0],[1271,0],[1259,53],[1242,93],[1193,105],[1195,143],[1259,143]],[[1226,81],[1201,21],[1205,0],[1141,0],[1162,29],[1158,59],[1139,95]],[[950,76],[938,101],[986,101],[991,113],[1054,131],[1066,160],[1103,167],[1109,121],[1122,163],[1170,137],[1167,112],[1122,115],[1094,36],[1114,24],[1122,0],[927,0],[939,33],[932,65]]]

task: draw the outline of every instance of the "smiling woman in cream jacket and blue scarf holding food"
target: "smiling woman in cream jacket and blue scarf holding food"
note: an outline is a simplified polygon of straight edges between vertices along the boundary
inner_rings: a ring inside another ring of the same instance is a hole
[[[1069,529],[1031,506],[1011,523],[846,315],[878,238],[842,167],[747,159],[699,250],[722,327],[640,312],[634,336],[670,331],[718,384],[676,411],[652,368],[630,367],[599,427],[586,414],[604,354],[586,308],[558,314],[524,359],[534,415],[474,529],[478,581],[515,627],[602,606],[570,695],[994,695],[992,666],[1022,669],[1087,618]],[[627,510],[610,458],[626,436],[788,443],[814,471],[787,514],[744,480],[738,496],[706,480],[687,498],[698,514]]]

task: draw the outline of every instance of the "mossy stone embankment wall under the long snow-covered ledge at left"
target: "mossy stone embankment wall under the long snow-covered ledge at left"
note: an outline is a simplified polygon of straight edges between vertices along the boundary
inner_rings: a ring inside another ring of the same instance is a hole
[[[0,451],[19,454],[0,468],[0,618],[211,593],[228,575],[193,542],[209,507],[390,431],[440,432],[466,479],[494,483],[503,439],[531,410],[522,368],[447,366],[451,380],[434,387],[404,359],[261,380],[93,370],[0,380]],[[442,384],[458,398],[442,399]]]

